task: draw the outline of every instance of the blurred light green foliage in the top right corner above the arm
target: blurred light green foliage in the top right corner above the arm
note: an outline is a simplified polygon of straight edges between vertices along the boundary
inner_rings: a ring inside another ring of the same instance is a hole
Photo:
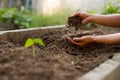
[[[112,2],[108,2],[106,6],[103,7],[102,14],[113,14],[120,13],[120,2],[113,5]]]

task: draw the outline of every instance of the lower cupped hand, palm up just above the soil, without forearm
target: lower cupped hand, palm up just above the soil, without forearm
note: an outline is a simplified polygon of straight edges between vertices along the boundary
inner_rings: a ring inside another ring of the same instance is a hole
[[[75,38],[70,38],[68,37],[67,39],[72,42],[75,45],[78,45],[80,47],[86,46],[90,43],[94,42],[95,36],[83,36],[83,37],[75,37]]]

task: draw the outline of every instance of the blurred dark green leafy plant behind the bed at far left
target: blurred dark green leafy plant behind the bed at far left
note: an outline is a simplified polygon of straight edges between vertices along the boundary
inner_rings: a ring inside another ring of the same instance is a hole
[[[0,21],[6,24],[13,24],[15,28],[29,28],[32,18],[24,8],[3,9],[0,8]]]

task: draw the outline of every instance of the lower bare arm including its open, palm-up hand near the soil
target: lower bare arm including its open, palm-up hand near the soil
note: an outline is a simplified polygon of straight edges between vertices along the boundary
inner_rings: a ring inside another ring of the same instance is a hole
[[[83,36],[83,37],[75,37],[75,38],[67,38],[73,44],[78,46],[85,46],[90,43],[101,43],[101,44],[120,44],[120,33],[109,34],[109,35],[101,35],[101,36]]]

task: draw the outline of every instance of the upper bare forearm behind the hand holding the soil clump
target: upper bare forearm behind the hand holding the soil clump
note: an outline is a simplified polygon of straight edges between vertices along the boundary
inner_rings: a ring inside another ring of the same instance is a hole
[[[120,14],[93,15],[91,22],[105,26],[120,27]]]

